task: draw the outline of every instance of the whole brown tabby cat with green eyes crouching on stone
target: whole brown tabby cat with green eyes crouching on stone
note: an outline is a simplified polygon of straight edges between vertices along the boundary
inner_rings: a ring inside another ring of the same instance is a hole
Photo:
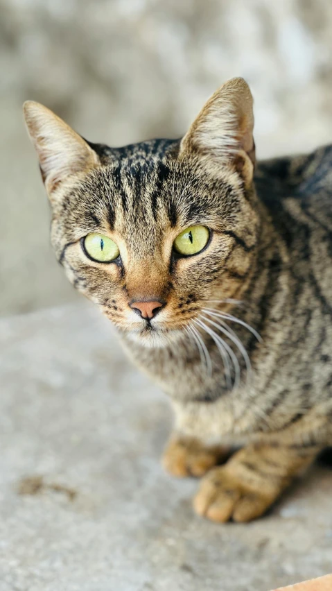
[[[263,515],[332,443],[332,146],[256,164],[242,78],[176,140],[24,113],[58,262],[171,397],[164,466],[202,477],[199,515]]]

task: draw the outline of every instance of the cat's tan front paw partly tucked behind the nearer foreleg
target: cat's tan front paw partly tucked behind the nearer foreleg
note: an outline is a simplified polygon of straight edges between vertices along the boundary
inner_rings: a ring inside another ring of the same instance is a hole
[[[205,445],[197,438],[173,433],[166,445],[162,463],[173,476],[201,477],[228,455],[227,447]]]

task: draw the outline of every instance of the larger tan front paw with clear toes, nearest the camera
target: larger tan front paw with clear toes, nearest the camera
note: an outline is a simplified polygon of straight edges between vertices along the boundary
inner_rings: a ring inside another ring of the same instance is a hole
[[[279,490],[271,494],[263,486],[241,481],[226,464],[202,479],[193,507],[198,515],[212,521],[248,522],[263,515],[278,496]]]

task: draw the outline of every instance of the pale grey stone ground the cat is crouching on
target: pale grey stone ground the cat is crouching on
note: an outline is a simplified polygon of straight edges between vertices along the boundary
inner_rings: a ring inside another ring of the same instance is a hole
[[[94,307],[2,319],[0,348],[0,591],[268,591],[332,571],[331,470],[252,524],[195,516],[197,482],[159,465],[168,402]]]

